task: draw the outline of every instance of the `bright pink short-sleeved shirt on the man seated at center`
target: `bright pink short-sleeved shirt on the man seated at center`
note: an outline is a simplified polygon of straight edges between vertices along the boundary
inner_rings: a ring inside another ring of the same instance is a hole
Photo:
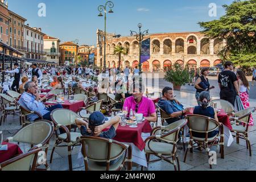
[[[136,110],[137,102],[134,100],[134,97],[128,97],[123,104],[123,110]],[[150,117],[151,114],[156,113],[155,105],[152,100],[149,100],[147,97],[142,96],[141,102],[138,104],[138,111],[137,113],[143,114],[143,117]]]

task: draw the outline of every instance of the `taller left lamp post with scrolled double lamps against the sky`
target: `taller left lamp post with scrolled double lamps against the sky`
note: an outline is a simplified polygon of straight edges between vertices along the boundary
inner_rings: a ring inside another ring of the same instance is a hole
[[[112,1],[108,1],[104,5],[98,6],[98,11],[100,11],[100,14],[98,16],[103,16],[102,11],[105,13],[105,31],[104,31],[104,69],[106,69],[106,14],[107,14],[107,7],[109,6],[110,10],[109,13],[114,13],[112,11],[112,8],[114,7],[114,3]]]

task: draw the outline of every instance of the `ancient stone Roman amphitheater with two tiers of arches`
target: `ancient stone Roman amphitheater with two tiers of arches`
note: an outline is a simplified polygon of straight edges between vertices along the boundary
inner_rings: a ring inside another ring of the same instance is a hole
[[[150,59],[143,63],[143,71],[163,71],[173,64],[191,65],[193,68],[213,67],[221,63],[218,52],[226,45],[225,40],[207,39],[200,32],[178,32],[150,34],[144,39],[151,39]],[[114,55],[115,46],[127,49],[122,55],[121,67],[135,67],[139,64],[139,42],[135,36],[107,35],[106,66],[118,67],[118,55]],[[97,30],[97,65],[104,62],[104,32]]]

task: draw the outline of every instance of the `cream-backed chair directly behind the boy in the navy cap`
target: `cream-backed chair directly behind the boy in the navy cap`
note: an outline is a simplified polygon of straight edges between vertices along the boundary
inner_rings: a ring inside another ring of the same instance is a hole
[[[79,137],[77,142],[82,144],[85,171],[120,171],[125,162],[127,170],[131,171],[131,146],[112,139],[98,137]],[[127,157],[126,157],[127,156]],[[113,165],[110,162],[117,160]],[[106,163],[105,166],[99,163]]]

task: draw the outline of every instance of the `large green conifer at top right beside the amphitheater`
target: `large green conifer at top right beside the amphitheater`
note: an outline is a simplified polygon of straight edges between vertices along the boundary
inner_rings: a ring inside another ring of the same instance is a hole
[[[223,60],[241,67],[256,66],[256,0],[236,0],[223,6],[226,14],[218,20],[199,22],[210,39],[225,39],[227,45],[220,51]]]

